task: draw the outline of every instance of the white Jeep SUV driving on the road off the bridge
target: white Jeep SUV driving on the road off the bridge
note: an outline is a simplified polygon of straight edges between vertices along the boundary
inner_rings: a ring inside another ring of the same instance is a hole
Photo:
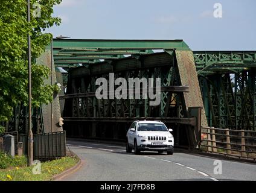
[[[141,151],[158,151],[173,154],[173,131],[161,121],[134,121],[127,131],[126,152],[139,154]]]

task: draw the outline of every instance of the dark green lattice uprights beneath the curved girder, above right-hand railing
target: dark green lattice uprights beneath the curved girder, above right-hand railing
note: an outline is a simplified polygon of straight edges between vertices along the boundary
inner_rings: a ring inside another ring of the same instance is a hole
[[[256,130],[255,71],[199,77],[211,127]]]

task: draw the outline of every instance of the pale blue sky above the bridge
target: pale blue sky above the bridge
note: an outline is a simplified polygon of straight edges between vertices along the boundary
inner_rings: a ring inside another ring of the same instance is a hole
[[[213,16],[222,4],[222,18]],[[183,39],[193,50],[256,50],[255,0],[63,0],[49,32],[73,39]]]

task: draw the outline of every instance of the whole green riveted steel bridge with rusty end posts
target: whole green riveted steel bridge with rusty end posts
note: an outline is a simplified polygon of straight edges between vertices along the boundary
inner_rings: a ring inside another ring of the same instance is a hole
[[[134,119],[160,119],[174,128],[176,144],[190,147],[202,127],[256,130],[256,51],[192,51],[183,40],[54,39],[37,63],[52,69],[47,83],[63,85],[52,105],[34,110],[37,133],[62,130],[61,116],[68,136],[94,139],[125,139]],[[97,100],[95,80],[111,72],[161,78],[161,103]],[[15,113],[8,127],[25,130],[26,110]]]

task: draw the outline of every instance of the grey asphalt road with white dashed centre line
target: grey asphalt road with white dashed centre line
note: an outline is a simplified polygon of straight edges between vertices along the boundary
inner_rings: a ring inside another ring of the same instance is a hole
[[[155,181],[155,180],[256,180],[256,165],[221,160],[222,174],[214,174],[215,158],[177,152],[126,153],[122,145],[67,141],[82,159],[82,166],[61,180]]]

